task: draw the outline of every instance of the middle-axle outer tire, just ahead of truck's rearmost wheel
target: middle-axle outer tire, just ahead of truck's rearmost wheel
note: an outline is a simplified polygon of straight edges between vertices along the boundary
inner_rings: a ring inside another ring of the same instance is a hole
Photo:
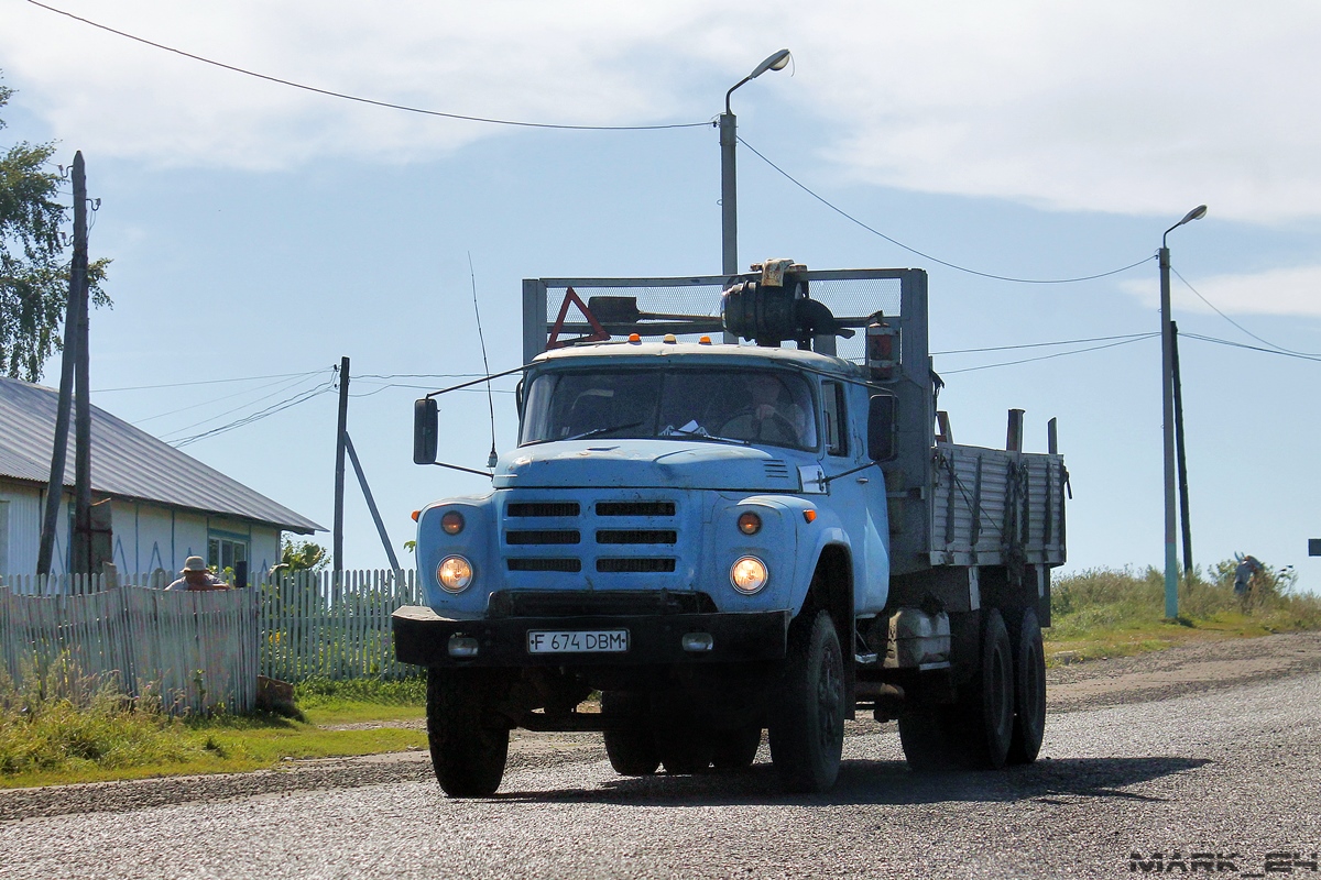
[[[1042,681],[1045,681],[1042,678]],[[995,608],[982,615],[982,657],[962,714],[966,723],[968,765],[997,770],[1009,756],[1013,739],[1013,648],[1004,617]]]

